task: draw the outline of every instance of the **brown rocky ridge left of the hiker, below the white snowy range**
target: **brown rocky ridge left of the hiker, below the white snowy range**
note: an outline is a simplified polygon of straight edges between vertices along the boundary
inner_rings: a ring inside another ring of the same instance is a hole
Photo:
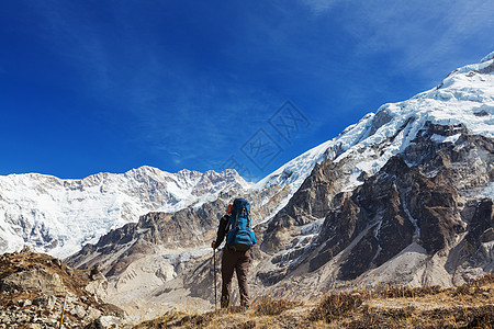
[[[210,241],[214,238],[217,218],[226,205],[227,202],[216,200],[199,209],[188,207],[172,214],[149,213],[138,223],[110,231],[97,245],[86,245],[67,261],[86,269],[99,264],[108,276],[112,276],[124,272],[136,258],[154,253],[156,246],[168,250],[203,247],[206,238]]]

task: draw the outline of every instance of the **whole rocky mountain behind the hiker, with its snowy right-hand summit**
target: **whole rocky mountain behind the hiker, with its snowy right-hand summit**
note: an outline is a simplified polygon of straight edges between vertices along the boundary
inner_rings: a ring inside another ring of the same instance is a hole
[[[313,296],[348,281],[448,286],[492,271],[493,172],[494,53],[382,105],[246,191],[259,242],[252,292]],[[100,291],[121,306],[209,305],[207,246],[232,196],[143,216],[69,262],[101,265],[111,288]]]

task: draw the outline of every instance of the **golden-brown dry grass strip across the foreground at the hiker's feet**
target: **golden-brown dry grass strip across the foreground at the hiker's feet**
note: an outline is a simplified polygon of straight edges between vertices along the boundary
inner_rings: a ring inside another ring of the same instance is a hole
[[[494,328],[494,275],[451,288],[333,292],[313,305],[267,297],[250,310],[169,313],[136,328]]]

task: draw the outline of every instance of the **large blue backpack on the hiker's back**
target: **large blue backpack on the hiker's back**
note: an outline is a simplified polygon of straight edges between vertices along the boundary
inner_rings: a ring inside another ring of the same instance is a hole
[[[226,248],[229,250],[246,251],[256,243],[256,235],[251,228],[250,205],[247,200],[235,198],[228,227]]]

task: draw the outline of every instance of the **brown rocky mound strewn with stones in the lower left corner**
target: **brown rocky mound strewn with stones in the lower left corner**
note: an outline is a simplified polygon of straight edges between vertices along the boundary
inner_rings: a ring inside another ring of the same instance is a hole
[[[124,313],[85,290],[97,279],[44,253],[0,256],[0,328],[122,328]]]

